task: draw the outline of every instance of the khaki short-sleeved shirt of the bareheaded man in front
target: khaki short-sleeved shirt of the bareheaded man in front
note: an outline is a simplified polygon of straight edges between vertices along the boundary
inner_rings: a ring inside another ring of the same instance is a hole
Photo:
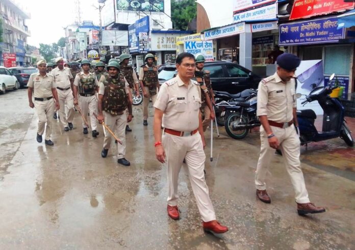
[[[192,131],[198,128],[198,113],[201,106],[201,90],[197,81],[190,80],[188,88],[179,75],[166,81],[154,104],[164,112],[164,128],[177,131]]]

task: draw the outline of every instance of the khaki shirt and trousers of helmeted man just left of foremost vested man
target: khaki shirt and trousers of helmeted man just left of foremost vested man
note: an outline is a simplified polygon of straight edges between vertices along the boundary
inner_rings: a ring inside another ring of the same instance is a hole
[[[95,118],[95,116],[93,115],[93,113],[97,114],[97,98],[95,94],[80,94],[80,90],[79,90],[79,84],[80,84],[80,76],[84,77],[84,78],[88,78],[88,77],[93,77],[94,78],[94,83],[95,86],[98,87],[98,80],[95,76],[94,73],[90,73],[89,74],[85,74],[84,71],[80,72],[80,75],[76,75],[74,78],[74,86],[78,87],[78,104],[79,107],[82,111],[82,115],[85,117],[85,120],[87,120],[87,114],[89,111],[90,114],[90,125],[91,125],[91,130],[97,130],[97,119]],[[83,128],[86,128],[86,123],[84,121],[84,119],[82,118],[82,124],[83,124]]]

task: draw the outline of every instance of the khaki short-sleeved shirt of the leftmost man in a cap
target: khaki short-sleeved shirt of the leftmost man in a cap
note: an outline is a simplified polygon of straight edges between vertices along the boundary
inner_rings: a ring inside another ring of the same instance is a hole
[[[55,89],[54,77],[46,73],[43,77],[39,72],[30,75],[27,87],[33,88],[34,97],[47,98],[53,96],[52,89]]]

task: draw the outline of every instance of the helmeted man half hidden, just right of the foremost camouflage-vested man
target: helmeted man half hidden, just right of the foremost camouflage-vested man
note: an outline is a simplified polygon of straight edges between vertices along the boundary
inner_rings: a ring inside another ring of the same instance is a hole
[[[129,54],[121,54],[119,57],[119,64],[120,64],[120,71],[128,81],[128,84],[130,85],[131,92],[136,93],[136,95],[139,96],[139,81],[137,78],[136,71],[134,71],[132,65],[128,65],[130,61],[130,55]],[[128,112],[128,111],[127,111]],[[131,132],[132,129],[130,126],[127,124],[126,126],[126,131]]]

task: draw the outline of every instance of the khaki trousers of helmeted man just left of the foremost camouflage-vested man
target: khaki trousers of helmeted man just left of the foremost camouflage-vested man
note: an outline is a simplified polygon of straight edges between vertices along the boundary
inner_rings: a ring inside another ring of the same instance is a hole
[[[90,114],[90,125],[91,130],[97,130],[97,119],[93,113],[97,114],[97,99],[96,95],[93,96],[80,96],[79,95],[79,107],[82,111],[82,115],[85,117],[85,120],[88,121],[88,112]],[[85,121],[82,117],[83,128],[86,128]]]

